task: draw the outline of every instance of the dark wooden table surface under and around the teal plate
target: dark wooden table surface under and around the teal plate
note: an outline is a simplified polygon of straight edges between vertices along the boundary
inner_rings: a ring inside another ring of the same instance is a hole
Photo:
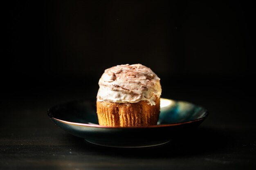
[[[96,82],[97,83],[97,82]],[[93,84],[94,86],[94,84]],[[1,103],[1,170],[97,169],[254,169],[256,114],[252,96],[239,87],[207,86],[173,91],[163,97],[200,104],[209,117],[190,135],[149,148],[108,148],[67,134],[47,117],[52,105],[97,93],[97,86],[43,86],[13,91]],[[11,96],[11,97],[10,97]],[[162,134],[172,135],[172,134]]]

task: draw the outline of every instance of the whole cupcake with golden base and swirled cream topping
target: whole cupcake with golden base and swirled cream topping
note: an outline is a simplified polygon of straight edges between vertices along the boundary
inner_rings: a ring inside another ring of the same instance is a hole
[[[125,64],[106,69],[97,94],[99,125],[156,125],[161,92],[159,77],[146,66]]]

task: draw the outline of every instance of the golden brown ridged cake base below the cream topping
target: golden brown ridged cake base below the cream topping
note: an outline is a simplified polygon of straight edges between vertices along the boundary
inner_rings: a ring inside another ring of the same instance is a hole
[[[155,103],[156,105],[151,106],[146,100],[137,103],[97,101],[99,125],[121,127],[156,125],[160,113],[160,98],[156,98]]]

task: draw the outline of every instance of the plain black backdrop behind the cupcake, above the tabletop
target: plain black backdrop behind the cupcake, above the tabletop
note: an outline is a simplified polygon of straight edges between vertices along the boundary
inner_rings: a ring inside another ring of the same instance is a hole
[[[3,6],[5,97],[67,84],[92,86],[96,95],[103,71],[127,63],[150,67],[167,95],[169,86],[184,84],[191,91],[253,87],[250,2],[14,0]]]

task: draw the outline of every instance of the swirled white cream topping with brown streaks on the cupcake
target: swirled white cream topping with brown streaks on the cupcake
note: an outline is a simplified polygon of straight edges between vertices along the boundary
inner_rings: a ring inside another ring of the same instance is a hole
[[[105,70],[99,79],[97,101],[137,103],[147,100],[155,105],[155,96],[160,97],[161,93],[160,79],[150,68],[124,64]]]

